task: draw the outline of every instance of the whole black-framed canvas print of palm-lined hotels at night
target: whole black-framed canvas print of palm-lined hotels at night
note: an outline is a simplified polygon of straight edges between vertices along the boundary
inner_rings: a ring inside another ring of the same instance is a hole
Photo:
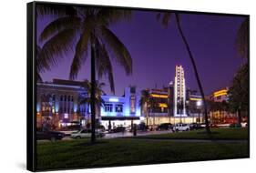
[[[27,169],[249,158],[249,24],[28,3]]]

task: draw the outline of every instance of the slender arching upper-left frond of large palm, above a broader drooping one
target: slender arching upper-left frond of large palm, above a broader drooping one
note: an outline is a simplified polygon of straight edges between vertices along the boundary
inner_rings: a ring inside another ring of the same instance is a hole
[[[77,16],[65,16],[57,18],[50,24],[46,25],[45,29],[39,36],[39,42],[46,41],[48,38],[55,36],[57,32],[64,29],[78,27],[81,24],[80,17]]]

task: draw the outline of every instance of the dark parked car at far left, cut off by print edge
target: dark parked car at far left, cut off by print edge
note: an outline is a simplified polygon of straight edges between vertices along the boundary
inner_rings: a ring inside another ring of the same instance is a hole
[[[61,140],[63,137],[65,137],[65,133],[59,132],[59,131],[49,131],[49,130],[44,130],[44,131],[36,131],[36,140],[51,140],[51,141],[56,141],[56,140]]]

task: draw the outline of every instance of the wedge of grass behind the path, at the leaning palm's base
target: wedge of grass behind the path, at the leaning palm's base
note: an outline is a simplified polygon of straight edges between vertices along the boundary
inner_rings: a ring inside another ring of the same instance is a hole
[[[205,129],[192,130],[187,132],[139,136],[138,138],[156,139],[248,139],[248,128],[211,128],[210,136],[205,133]]]

